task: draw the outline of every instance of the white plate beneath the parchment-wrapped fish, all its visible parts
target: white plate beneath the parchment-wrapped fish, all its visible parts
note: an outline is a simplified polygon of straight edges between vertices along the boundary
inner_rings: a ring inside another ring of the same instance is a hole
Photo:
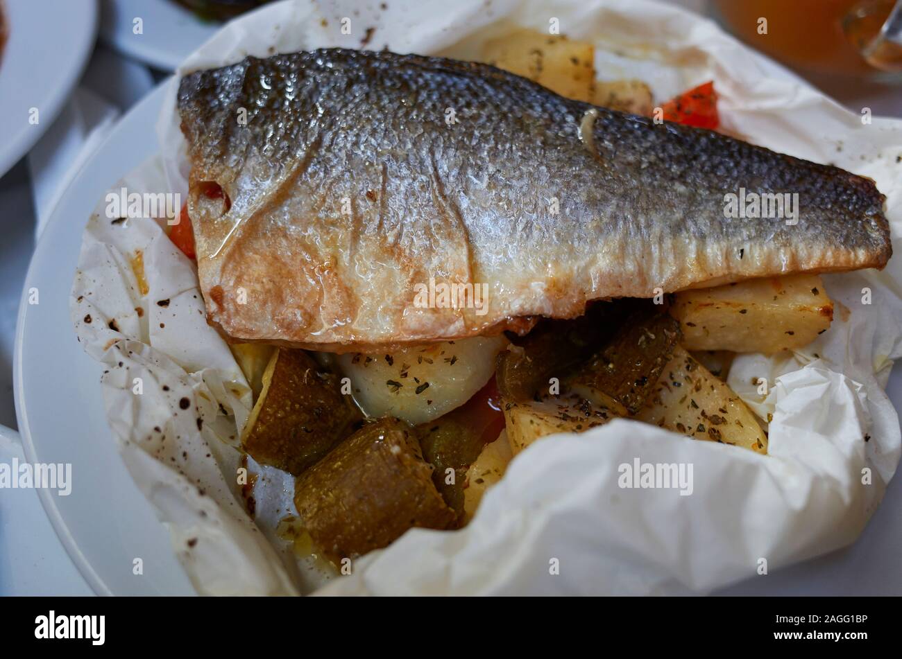
[[[69,497],[41,493],[51,522],[87,582],[100,593],[192,592],[154,518],[117,455],[106,425],[102,366],[78,346],[69,321],[69,289],[81,234],[101,194],[157,149],[152,126],[162,101],[158,88],[125,115],[63,194],[25,280],[16,333],[14,384],[19,427],[30,461],[72,464]],[[28,305],[30,288],[40,303]],[[888,393],[902,409],[902,375]],[[833,555],[757,577],[727,594],[897,594],[902,572],[902,484],[890,483],[880,509],[859,541]],[[132,572],[143,559],[143,576]]]

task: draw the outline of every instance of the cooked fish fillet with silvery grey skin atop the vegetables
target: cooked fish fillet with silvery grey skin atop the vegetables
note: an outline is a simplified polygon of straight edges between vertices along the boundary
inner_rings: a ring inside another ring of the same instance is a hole
[[[189,74],[178,102],[208,319],[235,340],[457,339],[891,254],[870,179],[603,108],[587,122],[592,105],[487,65],[314,50]],[[797,224],[725,217],[741,188],[798,194]],[[430,278],[486,284],[486,304],[418,303]]]

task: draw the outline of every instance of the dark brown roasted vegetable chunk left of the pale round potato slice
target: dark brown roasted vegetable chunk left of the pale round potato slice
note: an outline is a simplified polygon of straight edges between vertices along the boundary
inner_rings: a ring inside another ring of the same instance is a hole
[[[262,465],[300,474],[363,419],[340,387],[337,375],[303,350],[277,349],[242,433],[244,450]]]

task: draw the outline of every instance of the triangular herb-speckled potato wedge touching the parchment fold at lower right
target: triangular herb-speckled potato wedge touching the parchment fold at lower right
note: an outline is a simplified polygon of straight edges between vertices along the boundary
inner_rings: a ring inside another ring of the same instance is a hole
[[[694,439],[768,451],[767,436],[740,397],[679,346],[634,418]]]

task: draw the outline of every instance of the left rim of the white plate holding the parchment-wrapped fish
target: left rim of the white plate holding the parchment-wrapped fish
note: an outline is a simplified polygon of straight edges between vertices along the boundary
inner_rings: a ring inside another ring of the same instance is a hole
[[[15,406],[30,462],[70,463],[72,492],[38,490],[53,528],[98,594],[194,594],[157,521],[125,469],[104,416],[100,369],[78,345],[69,291],[81,234],[110,185],[157,150],[162,87],[137,104],[60,197],[25,277],[14,356]],[[38,304],[29,304],[29,290]],[[142,559],[143,575],[133,573]]]

